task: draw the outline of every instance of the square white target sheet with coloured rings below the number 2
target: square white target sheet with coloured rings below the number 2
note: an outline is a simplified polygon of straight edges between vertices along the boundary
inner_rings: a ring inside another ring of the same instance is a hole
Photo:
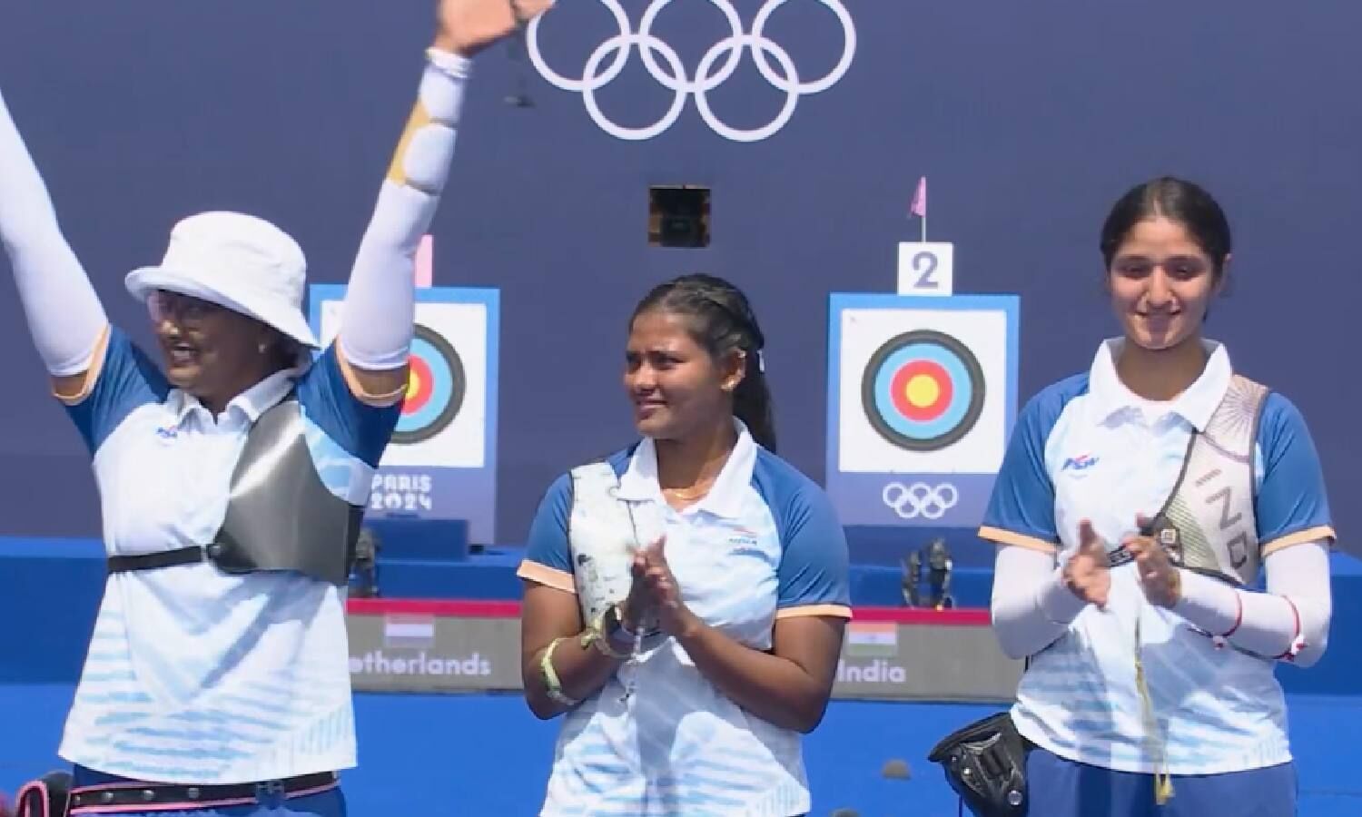
[[[1005,312],[844,309],[840,320],[839,470],[997,471]]]

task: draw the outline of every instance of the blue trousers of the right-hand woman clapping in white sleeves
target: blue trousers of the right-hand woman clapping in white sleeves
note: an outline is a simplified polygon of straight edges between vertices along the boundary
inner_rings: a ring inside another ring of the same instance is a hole
[[[1154,775],[1113,772],[1057,757],[1027,756],[1030,817],[1295,817],[1295,764],[1223,775],[1174,775],[1173,797],[1154,802]]]

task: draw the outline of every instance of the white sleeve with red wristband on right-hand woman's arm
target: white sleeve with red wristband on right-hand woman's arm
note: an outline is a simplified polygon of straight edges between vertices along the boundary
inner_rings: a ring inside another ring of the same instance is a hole
[[[1182,598],[1174,611],[1211,635],[1233,629],[1229,641],[1235,647],[1308,667],[1329,640],[1329,547],[1324,542],[1283,547],[1267,557],[1264,568],[1267,592],[1182,571]]]

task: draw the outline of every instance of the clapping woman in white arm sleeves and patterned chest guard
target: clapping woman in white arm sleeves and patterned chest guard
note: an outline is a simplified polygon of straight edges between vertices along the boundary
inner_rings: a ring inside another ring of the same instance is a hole
[[[1324,652],[1333,528],[1299,411],[1203,336],[1230,249],[1200,187],[1124,195],[1100,237],[1122,336],[1008,444],[979,535],[998,640],[1030,659],[1030,814],[1295,814],[1273,664]]]

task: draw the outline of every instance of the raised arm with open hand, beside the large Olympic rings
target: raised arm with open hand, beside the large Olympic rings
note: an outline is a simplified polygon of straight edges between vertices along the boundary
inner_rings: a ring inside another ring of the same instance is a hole
[[[340,312],[339,351],[355,396],[396,402],[407,387],[415,319],[414,257],[454,158],[474,53],[515,31],[550,0],[443,0],[421,89],[360,244]]]

